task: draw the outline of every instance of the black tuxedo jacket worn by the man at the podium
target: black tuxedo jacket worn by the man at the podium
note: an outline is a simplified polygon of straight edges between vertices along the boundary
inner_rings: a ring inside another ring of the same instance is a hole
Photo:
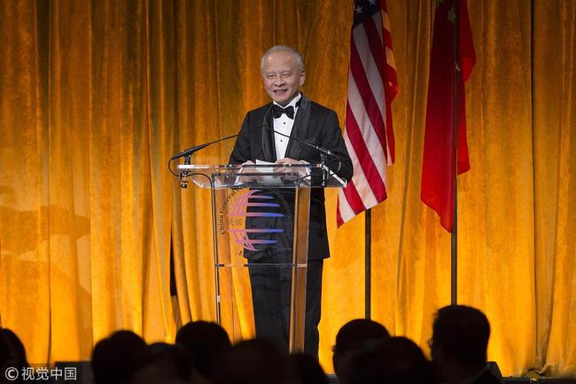
[[[246,114],[236,145],[230,154],[230,164],[241,164],[245,161],[276,161],[274,144],[274,127],[271,103],[254,109]],[[327,165],[339,177],[352,178],[353,167],[346,151],[337,114],[324,106],[310,101],[302,95],[298,113],[294,117],[291,137],[306,140],[309,143],[323,146],[343,158],[343,161],[329,159]],[[292,138],[288,142],[285,157],[307,161],[311,164],[320,162],[320,152],[315,148],[302,145]],[[322,188],[313,188],[310,197],[310,224],[308,235],[308,260],[319,260],[330,256],[326,231],[326,211]]]

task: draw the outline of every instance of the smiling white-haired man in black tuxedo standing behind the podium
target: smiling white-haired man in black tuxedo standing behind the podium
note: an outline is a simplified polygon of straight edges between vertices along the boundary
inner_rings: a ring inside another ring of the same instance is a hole
[[[272,103],[245,115],[230,155],[230,164],[253,164],[257,160],[273,162],[279,167],[319,163],[321,153],[303,145],[301,141],[305,140],[336,154],[335,157],[329,156],[326,164],[339,177],[350,180],[352,161],[346,151],[337,114],[300,92],[306,77],[300,53],[282,45],[270,48],[262,56],[261,74]],[[309,214],[304,351],[315,357],[318,354],[323,259],[329,256],[324,192],[322,188],[313,188]],[[290,261],[290,255],[282,255],[272,247],[258,255],[245,251],[245,257],[251,264]],[[250,269],[256,333],[258,337],[287,347],[290,278],[286,278],[282,271],[268,269],[268,272],[263,272],[265,270]]]

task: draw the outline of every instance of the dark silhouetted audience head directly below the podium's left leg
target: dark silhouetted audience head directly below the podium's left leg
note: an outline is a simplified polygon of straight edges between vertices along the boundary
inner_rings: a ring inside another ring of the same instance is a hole
[[[232,348],[228,333],[222,326],[207,321],[184,325],[176,333],[176,344],[188,351],[191,364],[207,379],[214,378],[220,357]]]

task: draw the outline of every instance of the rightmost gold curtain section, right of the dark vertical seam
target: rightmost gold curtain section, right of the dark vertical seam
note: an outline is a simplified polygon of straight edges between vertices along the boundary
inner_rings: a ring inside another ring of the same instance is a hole
[[[576,4],[545,5],[533,4],[536,351],[544,373],[576,372],[576,346],[564,342],[576,320]]]

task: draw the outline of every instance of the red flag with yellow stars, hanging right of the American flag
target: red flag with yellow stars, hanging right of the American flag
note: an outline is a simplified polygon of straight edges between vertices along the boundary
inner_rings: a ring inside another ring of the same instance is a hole
[[[455,6],[459,5],[459,15]],[[457,19],[457,20],[456,20]],[[458,22],[458,58],[455,57]],[[454,215],[455,87],[458,82],[457,174],[470,169],[464,82],[476,63],[466,0],[436,0],[426,107],[420,199],[452,231]],[[455,69],[458,69],[457,71]],[[457,77],[456,77],[457,76]]]

